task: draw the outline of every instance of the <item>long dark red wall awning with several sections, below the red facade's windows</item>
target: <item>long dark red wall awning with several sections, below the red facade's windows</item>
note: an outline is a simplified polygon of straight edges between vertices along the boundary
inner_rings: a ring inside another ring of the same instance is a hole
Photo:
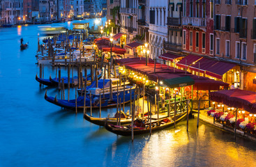
[[[189,68],[190,70],[208,74],[212,77],[222,79],[223,74],[232,69],[236,64],[223,61],[214,61],[201,56],[188,55],[176,63],[177,66]]]

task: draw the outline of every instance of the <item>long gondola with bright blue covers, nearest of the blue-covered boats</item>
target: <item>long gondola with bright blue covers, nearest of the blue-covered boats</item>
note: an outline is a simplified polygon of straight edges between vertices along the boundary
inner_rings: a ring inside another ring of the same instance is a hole
[[[119,104],[123,104],[123,103],[128,103],[130,102],[130,90],[132,93],[132,99],[136,98],[137,95],[135,95],[135,87],[133,88],[127,88],[125,90],[125,98],[123,100],[123,91],[119,92],[119,99],[121,99],[121,103],[119,102]],[[85,106],[86,108],[90,108],[90,106],[92,106],[93,109],[97,109],[100,107],[100,102],[99,102],[99,95],[92,95],[91,97],[91,102],[90,102],[90,97],[87,95],[86,96],[86,100],[85,100]],[[116,106],[117,104],[117,93],[113,93],[112,94],[112,100],[110,100],[109,98],[110,95],[106,94],[105,95],[105,99],[103,99],[103,95],[101,94],[101,107],[102,108],[106,108],[106,107],[112,107],[112,106]],[[52,104],[55,104],[57,106],[61,106],[63,108],[66,109],[73,109],[75,110],[75,100],[60,100],[57,99],[57,97],[48,97],[47,96],[47,91],[45,91],[45,100],[47,100],[47,102],[50,102]],[[84,109],[84,96],[79,96],[77,97],[77,109]]]

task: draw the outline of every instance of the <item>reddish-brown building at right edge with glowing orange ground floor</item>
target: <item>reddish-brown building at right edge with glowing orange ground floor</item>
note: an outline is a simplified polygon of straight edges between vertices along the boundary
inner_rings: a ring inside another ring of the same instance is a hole
[[[256,91],[256,1],[216,1],[215,56],[236,62],[225,80]]]

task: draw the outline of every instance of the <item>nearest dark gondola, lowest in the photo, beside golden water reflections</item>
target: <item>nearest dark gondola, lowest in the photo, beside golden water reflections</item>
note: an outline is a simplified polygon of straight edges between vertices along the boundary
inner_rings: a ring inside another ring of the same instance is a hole
[[[187,113],[180,113],[179,115],[176,115],[176,123],[186,118]],[[168,122],[170,121],[170,122]],[[160,120],[152,120],[151,122],[151,132],[155,132],[158,130],[165,129],[167,127],[172,127],[174,125],[174,116],[169,118],[162,118]],[[106,124],[105,128],[114,133],[121,136],[131,136],[132,135],[132,128],[130,125],[127,126],[117,126],[117,125],[111,125]],[[143,127],[134,127],[133,134],[139,135],[139,134],[146,134],[150,132],[150,124],[147,122]]]

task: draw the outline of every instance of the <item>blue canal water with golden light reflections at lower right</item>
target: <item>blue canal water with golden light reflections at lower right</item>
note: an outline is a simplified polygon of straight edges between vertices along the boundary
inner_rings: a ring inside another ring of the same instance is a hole
[[[40,26],[0,29],[0,166],[256,166],[256,143],[234,141],[233,134],[202,122],[197,129],[193,119],[188,132],[181,122],[135,136],[132,143],[83,120],[82,113],[46,102],[46,89],[47,95],[60,94],[35,80]],[[72,22],[52,26],[71,27]],[[20,38],[29,42],[28,49],[20,51]],[[55,69],[45,66],[44,77],[50,74],[54,77]],[[104,109],[103,116],[114,111]]]

